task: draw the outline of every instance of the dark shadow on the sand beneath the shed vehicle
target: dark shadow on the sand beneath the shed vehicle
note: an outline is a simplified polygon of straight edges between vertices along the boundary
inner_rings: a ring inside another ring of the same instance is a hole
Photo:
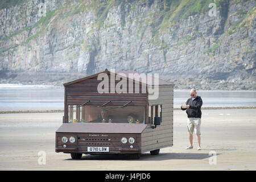
[[[221,154],[216,154],[221,155]],[[160,153],[159,155],[150,155],[144,153],[140,159],[131,159],[130,155],[83,155],[81,159],[65,159],[65,160],[170,160],[170,159],[206,159],[210,158],[208,153]]]

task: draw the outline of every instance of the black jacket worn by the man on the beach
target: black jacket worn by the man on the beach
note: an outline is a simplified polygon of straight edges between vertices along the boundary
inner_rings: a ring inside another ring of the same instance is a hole
[[[186,104],[189,105],[189,108],[186,111],[186,113],[188,114],[188,118],[201,118],[201,106],[203,105],[203,100],[200,96],[196,96],[194,100],[192,98],[189,98]],[[186,109],[181,108],[181,110]]]

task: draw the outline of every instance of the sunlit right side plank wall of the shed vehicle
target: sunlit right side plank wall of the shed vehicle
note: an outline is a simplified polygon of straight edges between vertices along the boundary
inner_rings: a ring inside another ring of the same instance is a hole
[[[174,86],[160,85],[157,100],[149,100],[150,105],[162,105],[162,123],[156,129],[148,125],[142,132],[142,152],[170,147],[173,144]]]

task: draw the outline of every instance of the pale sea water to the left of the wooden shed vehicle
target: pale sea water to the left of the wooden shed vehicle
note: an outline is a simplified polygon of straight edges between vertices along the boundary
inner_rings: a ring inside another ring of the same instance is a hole
[[[0,84],[0,110],[64,109],[64,88],[48,85]]]

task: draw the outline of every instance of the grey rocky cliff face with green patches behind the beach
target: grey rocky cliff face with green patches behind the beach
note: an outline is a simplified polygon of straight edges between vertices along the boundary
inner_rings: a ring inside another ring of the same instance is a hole
[[[55,0],[3,5],[1,82],[25,81],[31,75],[34,83],[65,82],[115,68],[159,73],[176,89],[255,90],[255,1],[217,0],[216,16],[209,16],[210,3],[214,1]]]

